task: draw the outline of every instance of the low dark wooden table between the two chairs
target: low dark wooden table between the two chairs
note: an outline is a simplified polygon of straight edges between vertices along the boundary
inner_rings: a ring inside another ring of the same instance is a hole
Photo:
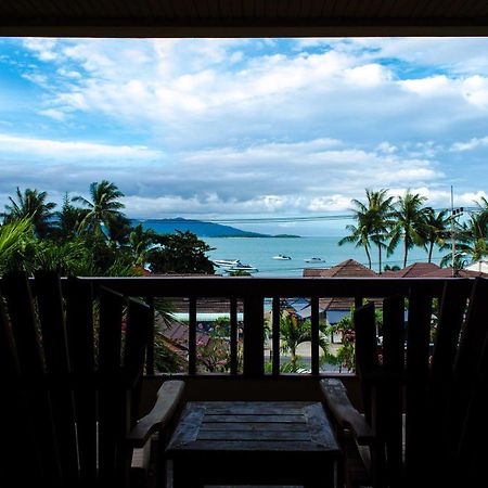
[[[339,449],[321,403],[189,402],[166,450],[175,488],[334,487]]]

